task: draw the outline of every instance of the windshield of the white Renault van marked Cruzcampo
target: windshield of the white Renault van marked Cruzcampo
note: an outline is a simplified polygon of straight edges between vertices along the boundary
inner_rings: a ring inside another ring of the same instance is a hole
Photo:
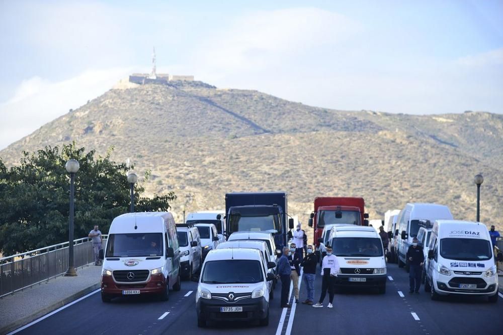
[[[202,283],[251,284],[264,281],[259,261],[222,260],[205,263]]]

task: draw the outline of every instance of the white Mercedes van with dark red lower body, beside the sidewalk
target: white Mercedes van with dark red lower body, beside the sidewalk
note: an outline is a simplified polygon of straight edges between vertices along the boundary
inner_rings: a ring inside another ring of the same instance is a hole
[[[105,248],[101,297],[157,295],[179,291],[180,250],[169,212],[127,213],[112,221]]]

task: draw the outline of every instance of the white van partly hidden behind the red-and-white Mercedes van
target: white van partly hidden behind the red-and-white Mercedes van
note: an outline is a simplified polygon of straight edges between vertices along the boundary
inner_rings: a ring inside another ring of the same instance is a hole
[[[193,225],[177,224],[178,245],[180,246],[180,268],[182,277],[190,279],[203,265],[203,253],[199,230]]]

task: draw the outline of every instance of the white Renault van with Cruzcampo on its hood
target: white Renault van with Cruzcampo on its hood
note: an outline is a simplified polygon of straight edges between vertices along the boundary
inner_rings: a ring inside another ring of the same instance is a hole
[[[217,249],[206,256],[196,294],[197,325],[210,320],[269,324],[269,281],[274,275],[257,249]]]

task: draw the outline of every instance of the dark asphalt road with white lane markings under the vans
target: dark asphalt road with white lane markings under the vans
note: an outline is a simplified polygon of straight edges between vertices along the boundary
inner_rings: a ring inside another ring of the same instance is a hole
[[[279,307],[280,285],[271,303],[270,323],[261,327],[246,323],[210,324],[198,328],[195,291],[197,283],[185,281],[180,292],[170,292],[169,301],[117,298],[103,303],[99,293],[25,328],[18,334],[484,334],[503,333],[503,298],[488,303],[486,298],[448,297],[431,301],[408,293],[408,277],[395,264],[388,265],[387,291],[350,290],[336,294],[334,308],[313,308],[296,304],[288,310]],[[316,277],[315,298],[321,280]],[[403,297],[402,297],[403,295]],[[300,300],[306,297],[300,288]],[[326,298],[328,299],[328,297]],[[325,300],[326,305],[327,300]],[[166,314],[167,313],[167,314]],[[283,317],[282,317],[283,316]],[[280,323],[281,321],[281,323]]]

